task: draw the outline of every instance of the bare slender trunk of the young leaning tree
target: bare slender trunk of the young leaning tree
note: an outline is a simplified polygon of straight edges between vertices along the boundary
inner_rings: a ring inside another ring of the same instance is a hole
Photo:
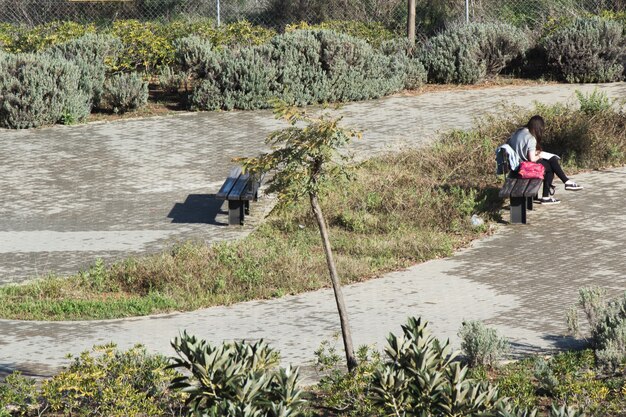
[[[350,331],[350,322],[348,321],[348,313],[346,311],[346,305],[343,300],[343,293],[341,292],[341,284],[339,283],[339,275],[337,274],[337,268],[335,267],[335,260],[333,259],[333,252],[330,247],[330,240],[328,238],[328,228],[326,227],[326,221],[322,214],[322,208],[317,201],[317,196],[313,193],[309,194],[311,200],[311,208],[315,214],[315,220],[320,229],[322,235],[322,245],[324,246],[324,253],[326,254],[326,263],[328,264],[328,272],[330,272],[330,281],[333,284],[333,291],[335,292],[335,301],[337,302],[337,310],[339,311],[339,321],[341,322],[341,335],[343,337],[343,347],[346,351],[346,360],[348,363],[348,370],[352,371],[357,366],[356,356],[354,355],[354,347],[352,345],[352,332]]]

